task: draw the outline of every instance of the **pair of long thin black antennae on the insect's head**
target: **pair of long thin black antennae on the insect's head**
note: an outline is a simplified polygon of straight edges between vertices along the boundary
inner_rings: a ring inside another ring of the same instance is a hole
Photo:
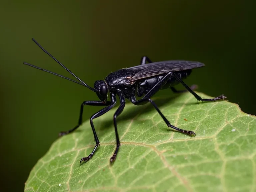
[[[49,55],[51,58],[53,58],[57,63],[59,63],[64,69],[66,69],[66,70],[67,70],[71,75],[73,75],[77,80],[79,80],[85,87],[88,87],[88,88],[91,89],[92,91],[97,92],[96,89],[94,89],[94,88],[90,87],[89,85],[87,85],[85,82],[83,82],[81,79],[79,79],[74,73],[72,73],[67,67],[65,67],[61,62],[59,62],[55,57],[53,57],[53,56],[52,56],[48,51],[46,51],[34,38],[32,38],[32,41],[34,41],[35,44],[37,44],[38,47],[40,47],[47,55]],[[77,81],[74,81],[74,80],[69,79],[69,78],[67,78],[67,77],[64,77],[64,76],[62,76],[62,75],[59,75],[59,74],[57,74],[57,73],[53,73],[53,72],[51,72],[51,71],[48,71],[48,70],[45,70],[45,69],[36,67],[36,66],[31,65],[31,64],[29,64],[29,63],[23,63],[23,64],[29,65],[29,66],[31,66],[31,67],[40,69],[40,70],[42,70],[42,71],[45,71],[45,72],[48,72],[48,73],[57,75],[57,76],[62,77],[62,78],[64,78],[64,79],[68,79],[68,80],[70,80],[70,81],[73,81],[73,82],[76,82],[76,83],[80,84],[80,83],[77,82]]]

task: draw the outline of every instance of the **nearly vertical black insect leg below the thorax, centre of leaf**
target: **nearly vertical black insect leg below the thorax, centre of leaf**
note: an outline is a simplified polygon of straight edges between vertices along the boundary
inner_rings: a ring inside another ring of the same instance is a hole
[[[117,124],[116,124],[116,118],[118,115],[120,115],[125,107],[125,97],[123,96],[122,92],[119,91],[119,98],[120,98],[120,106],[118,107],[118,109],[116,110],[115,114],[114,114],[114,126],[115,126],[115,134],[116,134],[116,150],[113,154],[113,156],[110,158],[110,163],[113,164],[114,161],[116,160],[116,156],[120,147],[120,140],[119,140],[119,136],[118,136],[118,132],[117,132]]]

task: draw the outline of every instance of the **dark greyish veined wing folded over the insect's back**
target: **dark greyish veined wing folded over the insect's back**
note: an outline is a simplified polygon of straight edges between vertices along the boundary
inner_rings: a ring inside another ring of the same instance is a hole
[[[130,67],[128,69],[136,70],[137,73],[129,77],[129,82],[136,81],[138,79],[144,79],[156,75],[161,75],[168,73],[170,71],[182,71],[187,69],[194,69],[205,66],[203,63],[196,61],[181,61],[181,60],[173,60],[173,61],[161,61],[155,63],[148,63],[145,65],[138,65],[134,67]]]

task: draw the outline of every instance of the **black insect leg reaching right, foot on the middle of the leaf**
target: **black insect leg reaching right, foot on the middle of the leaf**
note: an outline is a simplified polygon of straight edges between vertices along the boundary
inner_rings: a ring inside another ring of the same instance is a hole
[[[147,103],[147,102],[150,102],[150,103],[155,107],[155,109],[157,110],[157,112],[159,113],[159,115],[163,118],[164,122],[166,123],[166,125],[167,125],[168,127],[171,127],[171,128],[173,128],[173,129],[175,129],[175,130],[177,130],[177,131],[179,131],[179,132],[181,132],[181,133],[187,134],[187,135],[189,135],[189,136],[196,136],[196,134],[195,134],[193,131],[183,130],[183,129],[180,129],[180,128],[178,128],[178,127],[175,127],[175,126],[171,125],[170,122],[169,122],[169,121],[166,119],[166,117],[163,115],[163,113],[158,109],[158,107],[157,107],[157,105],[155,104],[155,102],[152,101],[152,99],[150,99],[150,98],[142,98],[142,99],[136,100],[135,95],[133,95],[133,96],[131,97],[131,101],[132,101],[132,103],[133,103],[134,105],[141,105],[141,103],[145,104],[145,103]]]

